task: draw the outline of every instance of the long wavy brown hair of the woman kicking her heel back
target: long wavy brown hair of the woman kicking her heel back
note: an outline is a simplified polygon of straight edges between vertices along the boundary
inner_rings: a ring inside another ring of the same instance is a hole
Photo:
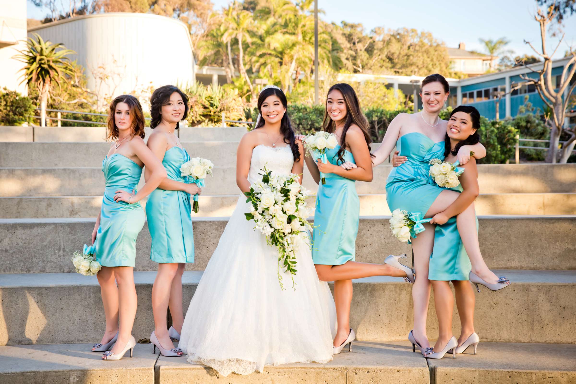
[[[338,83],[334,84],[328,89],[328,93],[326,94],[326,99],[328,100],[328,95],[333,90],[339,90],[344,97],[344,103],[346,104],[346,121],[344,121],[344,129],[342,130],[342,138],[340,138],[340,149],[338,150],[338,162],[342,164],[344,162],[344,150],[346,150],[346,132],[348,132],[348,128],[352,124],[356,124],[362,133],[364,134],[364,138],[366,139],[366,144],[368,145],[368,150],[370,151],[370,143],[372,143],[372,138],[368,134],[368,119],[362,113],[362,109],[360,108],[360,100],[358,100],[358,96],[356,96],[356,92],[354,88],[347,83]],[[323,130],[329,133],[334,133],[336,131],[336,122],[330,118],[328,115],[328,102],[326,103],[326,108],[324,109],[324,120],[322,121]],[[371,157],[374,157],[373,154],[370,154]]]

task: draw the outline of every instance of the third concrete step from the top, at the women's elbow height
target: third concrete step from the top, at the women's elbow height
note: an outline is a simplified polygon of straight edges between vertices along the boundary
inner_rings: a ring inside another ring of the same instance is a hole
[[[484,165],[480,168],[482,193],[572,193],[576,192],[576,164]],[[374,169],[372,183],[358,181],[358,193],[385,193],[391,166]],[[141,185],[144,177],[142,176]],[[308,169],[304,186],[317,190]],[[0,196],[97,196],[103,193],[101,167],[0,168]],[[206,180],[204,195],[236,195],[236,167],[216,167]]]

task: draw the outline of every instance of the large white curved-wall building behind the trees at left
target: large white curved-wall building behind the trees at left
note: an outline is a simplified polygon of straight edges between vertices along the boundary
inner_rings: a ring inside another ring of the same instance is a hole
[[[84,67],[88,88],[100,98],[130,92],[144,96],[150,86],[186,85],[195,79],[188,26],[173,18],[92,14],[28,29],[28,36],[33,33],[77,52],[70,58]]]

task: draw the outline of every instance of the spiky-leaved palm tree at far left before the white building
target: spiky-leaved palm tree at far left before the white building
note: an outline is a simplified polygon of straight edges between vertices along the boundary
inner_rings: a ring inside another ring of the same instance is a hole
[[[46,126],[46,103],[50,98],[50,87],[56,83],[61,89],[60,82],[69,82],[65,75],[74,75],[72,62],[66,55],[75,54],[73,50],[67,50],[64,44],[52,44],[44,41],[40,35],[34,33],[35,39],[28,37],[26,40],[27,50],[20,51],[20,55],[14,58],[25,63],[21,69],[24,71],[24,79],[28,87],[36,85],[40,93],[40,125]]]

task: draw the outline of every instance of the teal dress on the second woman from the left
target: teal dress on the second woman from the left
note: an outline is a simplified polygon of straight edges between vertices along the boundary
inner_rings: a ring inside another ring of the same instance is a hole
[[[185,149],[172,147],[164,154],[162,165],[168,178],[188,183],[180,176],[180,166],[190,160]],[[156,263],[194,263],[194,234],[190,212],[190,193],[154,189],[146,201],[146,217],[152,238],[150,260]]]

